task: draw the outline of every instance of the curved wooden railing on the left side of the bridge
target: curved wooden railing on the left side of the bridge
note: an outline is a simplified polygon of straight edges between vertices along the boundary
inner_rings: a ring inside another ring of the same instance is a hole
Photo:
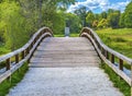
[[[48,27],[43,27],[38,29],[22,48],[0,57],[0,64],[6,63],[6,71],[0,74],[0,83],[16,71],[25,61],[30,60],[36,47],[45,37],[52,36],[52,31]],[[14,64],[12,65],[12,63]]]

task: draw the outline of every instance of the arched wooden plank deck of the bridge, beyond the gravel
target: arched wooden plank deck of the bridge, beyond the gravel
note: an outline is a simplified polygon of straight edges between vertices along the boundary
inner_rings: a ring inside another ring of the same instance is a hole
[[[44,39],[30,67],[97,67],[100,62],[92,45],[82,37]]]

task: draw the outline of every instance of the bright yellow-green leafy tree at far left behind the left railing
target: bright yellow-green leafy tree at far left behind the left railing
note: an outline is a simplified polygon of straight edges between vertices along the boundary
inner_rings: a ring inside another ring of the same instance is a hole
[[[0,3],[2,31],[7,46],[14,50],[26,43],[29,34],[28,23],[20,15],[20,8],[14,1],[6,1]],[[24,39],[23,39],[24,38]]]

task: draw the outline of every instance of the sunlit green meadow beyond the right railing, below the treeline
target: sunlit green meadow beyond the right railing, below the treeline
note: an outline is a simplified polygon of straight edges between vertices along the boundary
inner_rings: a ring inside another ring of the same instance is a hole
[[[132,28],[95,31],[101,40],[113,50],[132,58]]]

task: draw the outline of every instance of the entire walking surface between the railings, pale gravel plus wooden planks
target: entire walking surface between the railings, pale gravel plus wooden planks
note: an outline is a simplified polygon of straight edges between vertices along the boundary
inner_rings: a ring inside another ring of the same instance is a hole
[[[34,52],[25,77],[9,96],[122,96],[99,62],[86,38],[46,38]]]

